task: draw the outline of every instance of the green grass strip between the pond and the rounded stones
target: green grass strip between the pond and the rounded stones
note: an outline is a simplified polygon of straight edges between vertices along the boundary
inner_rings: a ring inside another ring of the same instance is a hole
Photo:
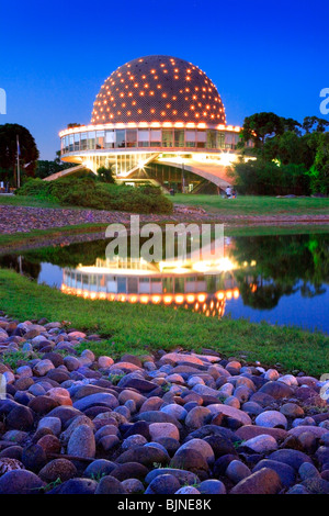
[[[0,310],[20,321],[47,317],[97,332],[106,340],[80,345],[81,350],[91,348],[97,355],[144,355],[177,347],[201,351],[205,347],[265,366],[279,362],[285,371],[315,375],[329,371],[329,337],[321,333],[226,317],[218,321],[184,309],[83,300],[9,270],[0,270]]]

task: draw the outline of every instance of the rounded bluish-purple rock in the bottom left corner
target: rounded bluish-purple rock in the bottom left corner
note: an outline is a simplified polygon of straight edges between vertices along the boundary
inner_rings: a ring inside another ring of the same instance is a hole
[[[9,471],[0,478],[0,494],[37,494],[44,482],[31,471]]]

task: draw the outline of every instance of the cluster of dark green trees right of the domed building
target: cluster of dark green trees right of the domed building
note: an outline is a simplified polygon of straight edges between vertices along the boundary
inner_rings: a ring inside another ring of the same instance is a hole
[[[307,116],[304,122],[275,113],[245,119],[239,148],[245,159],[231,171],[241,193],[329,193],[329,121]],[[253,147],[247,147],[251,141]]]

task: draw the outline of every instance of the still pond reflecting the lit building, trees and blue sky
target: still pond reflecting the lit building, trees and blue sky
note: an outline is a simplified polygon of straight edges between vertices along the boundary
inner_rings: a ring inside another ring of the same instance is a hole
[[[0,256],[10,267],[68,295],[163,304],[207,316],[294,325],[329,334],[329,234],[225,238],[218,262],[105,259],[106,240]]]

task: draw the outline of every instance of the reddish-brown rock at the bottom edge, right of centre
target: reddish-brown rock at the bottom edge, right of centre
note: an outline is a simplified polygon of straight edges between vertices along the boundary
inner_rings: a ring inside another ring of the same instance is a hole
[[[230,491],[230,494],[276,494],[281,489],[279,474],[274,470],[262,468],[247,476],[247,479],[241,480]]]

